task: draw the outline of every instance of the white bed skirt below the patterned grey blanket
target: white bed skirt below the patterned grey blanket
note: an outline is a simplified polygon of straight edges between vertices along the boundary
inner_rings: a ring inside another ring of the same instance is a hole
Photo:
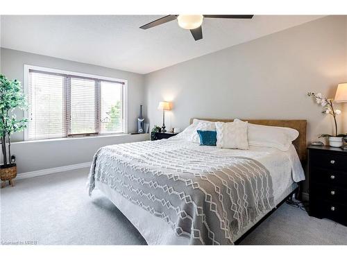
[[[95,182],[96,189],[102,191],[105,196],[110,199],[113,204],[121,211],[130,223],[132,223],[140,234],[144,237],[149,245],[189,245],[189,238],[185,236],[178,236],[176,232],[161,218],[153,216],[149,211],[142,209],[141,207],[129,202],[123,196],[119,195],[117,191],[114,191],[106,184],[101,182]],[[296,182],[293,182],[285,191],[282,192],[280,196],[275,198],[275,204],[278,205],[282,200],[284,200],[289,194],[298,187]],[[269,211],[260,215],[255,221],[259,221],[264,217]],[[240,232],[236,237],[235,241],[239,239],[243,234],[245,234],[248,229],[253,227],[255,223],[248,225],[242,232]]]

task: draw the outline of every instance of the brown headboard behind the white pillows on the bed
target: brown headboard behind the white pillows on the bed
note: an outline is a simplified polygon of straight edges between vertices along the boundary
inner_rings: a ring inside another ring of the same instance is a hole
[[[194,119],[190,119],[190,123],[193,123]],[[212,122],[232,122],[234,119],[200,119]],[[242,119],[242,121],[248,121],[249,123],[255,123],[257,125],[271,125],[280,126],[284,128],[294,128],[298,130],[299,136],[293,141],[293,145],[296,148],[296,152],[301,160],[304,162],[306,159],[306,120],[272,120],[272,119]]]

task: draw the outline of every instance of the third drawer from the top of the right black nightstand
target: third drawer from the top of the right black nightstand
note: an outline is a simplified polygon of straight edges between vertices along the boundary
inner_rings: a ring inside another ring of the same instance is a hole
[[[314,185],[310,189],[310,196],[329,202],[339,202],[347,207],[347,189],[341,187]]]

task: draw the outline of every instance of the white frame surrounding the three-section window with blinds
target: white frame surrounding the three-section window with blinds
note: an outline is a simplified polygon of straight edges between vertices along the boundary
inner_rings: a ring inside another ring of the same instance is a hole
[[[105,76],[98,76],[98,75],[89,74],[89,73],[81,73],[81,72],[76,72],[76,71],[66,71],[66,70],[62,70],[62,69],[51,69],[48,67],[39,67],[39,66],[24,64],[23,83],[24,83],[24,94],[26,96],[28,96],[28,91],[29,91],[29,71],[30,70],[42,71],[44,73],[58,73],[58,74],[63,74],[63,75],[67,75],[67,76],[76,76],[79,78],[91,78],[94,80],[96,79],[96,80],[105,80],[105,81],[123,83],[123,88],[122,88],[122,100],[123,100],[122,107],[123,107],[123,118],[124,118],[123,132],[105,133],[105,134],[99,133],[97,135],[67,135],[67,137],[49,138],[49,140],[73,139],[76,137],[99,137],[99,136],[107,136],[107,135],[128,134],[128,80],[121,79],[121,78],[110,78],[110,77],[105,77]],[[66,91],[66,89],[65,89],[65,91]],[[28,118],[28,116],[29,116],[28,110],[24,110],[24,118]],[[66,123],[67,123],[67,121],[66,121]],[[98,123],[98,122],[96,122],[96,123]],[[38,140],[47,140],[47,139],[29,139],[28,128],[24,129],[24,141],[38,141]]]

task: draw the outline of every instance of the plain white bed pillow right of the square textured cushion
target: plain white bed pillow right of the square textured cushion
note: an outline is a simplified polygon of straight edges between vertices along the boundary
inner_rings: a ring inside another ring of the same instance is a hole
[[[238,121],[241,120],[234,120],[234,122]],[[292,128],[248,123],[248,144],[250,146],[274,147],[286,152],[292,141],[298,136],[299,132]]]

